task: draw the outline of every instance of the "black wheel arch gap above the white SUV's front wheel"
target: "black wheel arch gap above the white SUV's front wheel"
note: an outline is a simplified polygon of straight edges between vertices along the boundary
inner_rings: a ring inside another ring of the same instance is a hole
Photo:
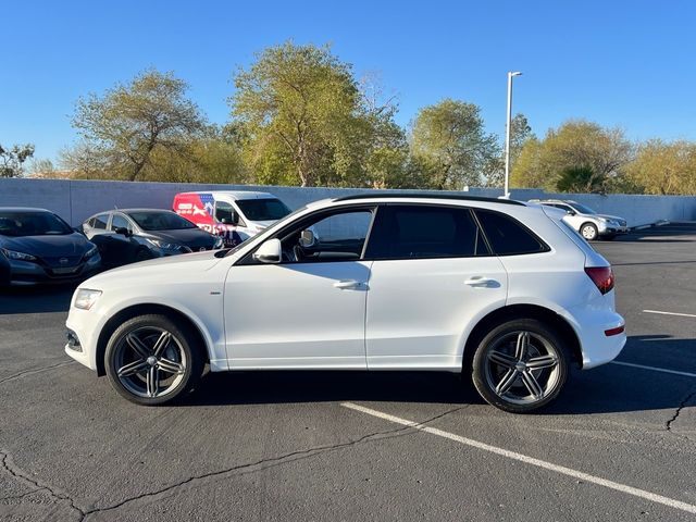
[[[95,353],[97,375],[102,376],[107,373],[104,368],[104,353],[107,351],[107,344],[109,343],[109,339],[111,338],[111,335],[115,332],[115,330],[129,319],[153,313],[165,315],[173,319],[178,324],[187,325],[200,341],[200,344],[197,344],[197,348],[200,355],[203,356],[204,362],[210,362],[211,347],[208,339],[206,338],[206,335],[203,335],[200,325],[196,321],[194,321],[189,315],[182,312],[181,310],[169,307],[166,304],[141,303],[133,304],[120,310],[104,323],[101,332],[99,333],[99,338],[97,340],[97,350]]]

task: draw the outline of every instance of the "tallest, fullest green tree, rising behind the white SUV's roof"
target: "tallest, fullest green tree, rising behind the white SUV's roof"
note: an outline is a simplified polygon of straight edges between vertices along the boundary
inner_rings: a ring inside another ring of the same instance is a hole
[[[328,47],[286,42],[235,77],[233,124],[259,181],[301,186],[360,179],[372,125],[350,65]]]

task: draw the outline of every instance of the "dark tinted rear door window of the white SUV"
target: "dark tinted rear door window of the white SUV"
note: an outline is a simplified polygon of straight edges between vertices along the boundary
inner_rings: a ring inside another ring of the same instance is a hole
[[[469,209],[388,206],[380,209],[368,258],[459,258],[488,254]]]

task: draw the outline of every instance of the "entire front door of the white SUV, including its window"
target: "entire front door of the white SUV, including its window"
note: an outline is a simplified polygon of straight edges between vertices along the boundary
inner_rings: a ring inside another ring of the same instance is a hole
[[[224,314],[231,369],[365,369],[372,209],[321,212],[276,234],[277,264],[229,269]]]

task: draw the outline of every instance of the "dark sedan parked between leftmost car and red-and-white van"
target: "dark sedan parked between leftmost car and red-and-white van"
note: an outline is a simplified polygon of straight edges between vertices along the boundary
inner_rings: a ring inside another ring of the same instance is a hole
[[[82,228],[107,268],[223,247],[222,238],[171,210],[110,210],[92,215]]]

